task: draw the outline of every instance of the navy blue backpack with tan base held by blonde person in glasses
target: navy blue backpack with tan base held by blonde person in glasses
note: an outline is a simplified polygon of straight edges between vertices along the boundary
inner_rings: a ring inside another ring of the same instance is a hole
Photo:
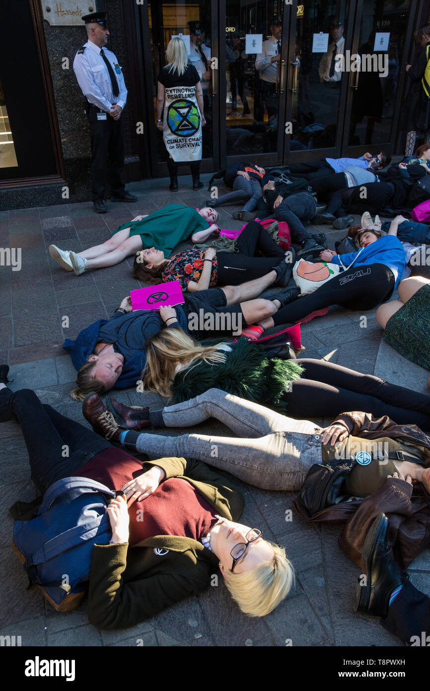
[[[12,549],[60,612],[84,598],[92,547],[112,537],[106,507],[117,494],[87,477],[64,477],[46,491],[36,518],[14,522]]]

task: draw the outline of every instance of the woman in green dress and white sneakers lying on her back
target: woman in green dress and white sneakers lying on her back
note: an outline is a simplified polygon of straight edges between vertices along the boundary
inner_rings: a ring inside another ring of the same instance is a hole
[[[140,249],[153,245],[168,256],[176,245],[190,236],[193,243],[204,243],[211,234],[219,234],[217,219],[217,211],[211,207],[197,211],[182,204],[168,204],[153,214],[136,216],[131,222],[123,223],[106,243],[84,249],[79,254],[50,245],[49,254],[63,269],[79,276],[88,269],[119,264]]]

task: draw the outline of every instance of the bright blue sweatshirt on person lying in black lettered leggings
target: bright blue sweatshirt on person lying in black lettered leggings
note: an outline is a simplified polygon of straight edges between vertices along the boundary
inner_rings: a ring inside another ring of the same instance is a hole
[[[400,283],[404,267],[406,266],[406,255],[404,254],[402,243],[395,235],[384,235],[382,238],[378,238],[375,243],[371,243],[367,245],[367,247],[362,247],[358,252],[337,254],[330,261],[333,264],[338,264],[344,269],[347,269],[353,261],[353,267],[369,264],[384,264],[389,267],[394,274],[395,290],[398,283]]]

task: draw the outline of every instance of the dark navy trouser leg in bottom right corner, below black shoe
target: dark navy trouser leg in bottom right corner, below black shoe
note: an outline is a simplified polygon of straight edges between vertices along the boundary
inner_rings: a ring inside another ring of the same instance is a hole
[[[388,616],[381,619],[382,626],[393,636],[412,645],[430,644],[430,598],[421,593],[406,580],[388,610]],[[424,635],[423,635],[424,634]],[[413,640],[412,636],[418,636]],[[427,636],[429,639],[427,640]],[[422,642],[424,639],[424,643]]]

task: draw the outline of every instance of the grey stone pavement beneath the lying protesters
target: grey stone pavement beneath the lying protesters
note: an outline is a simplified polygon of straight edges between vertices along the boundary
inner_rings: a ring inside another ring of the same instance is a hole
[[[130,276],[130,260],[78,277],[52,261],[48,245],[55,243],[62,249],[79,251],[103,242],[110,231],[137,214],[149,214],[171,202],[202,206],[208,196],[204,190],[193,192],[188,176],[179,178],[176,193],[169,192],[167,185],[166,180],[130,184],[128,189],[137,194],[138,202],[129,207],[109,203],[105,215],[94,214],[91,202],[0,213],[0,247],[22,248],[21,271],[0,267],[0,362],[10,365],[14,390],[34,388],[43,403],[86,424],[81,406],[68,396],[75,369],[61,344],[90,322],[110,316],[121,299],[139,284]],[[222,187],[219,193],[223,193]],[[236,209],[220,207],[219,225],[240,227],[240,222],[231,217]],[[344,231],[328,226],[315,227],[311,232],[317,230],[328,234],[333,249],[335,240],[344,236]],[[65,316],[68,328],[63,325]],[[426,391],[428,372],[384,343],[375,310],[366,316],[367,325],[363,327],[357,312],[332,307],[324,318],[304,325],[303,357],[323,358]],[[117,397],[131,404],[137,402],[134,390],[118,392]],[[150,401],[156,406],[156,397]],[[211,433],[215,429],[218,434],[227,431],[215,423],[202,430],[206,428]],[[85,602],[76,612],[57,613],[37,589],[26,590],[26,576],[10,549],[12,519],[8,507],[17,499],[28,501],[35,496],[26,446],[16,423],[0,425],[0,452],[0,635],[21,636],[22,645],[41,646],[284,646],[289,641],[295,646],[402,645],[382,629],[378,620],[353,612],[359,569],[338,547],[340,527],[305,524],[294,512],[293,519],[286,521],[291,493],[262,491],[243,483],[244,524],[257,525],[266,538],[284,545],[297,574],[295,587],[275,612],[262,619],[242,616],[220,578],[217,587],[127,630],[97,630],[88,624]],[[430,595],[429,550],[413,562],[410,574],[412,582]]]

